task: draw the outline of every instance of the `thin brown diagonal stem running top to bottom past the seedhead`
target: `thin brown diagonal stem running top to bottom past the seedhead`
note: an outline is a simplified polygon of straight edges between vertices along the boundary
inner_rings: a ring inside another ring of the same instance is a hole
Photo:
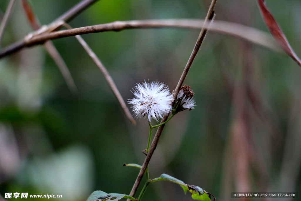
[[[209,10],[208,10],[208,13],[207,13],[207,16],[206,16],[206,18],[204,20],[204,24],[205,25],[208,24],[208,22],[210,22],[212,20],[213,16],[214,16],[213,8],[214,8],[215,4],[216,4],[216,0],[212,0],[211,5],[210,5]],[[208,27],[205,28],[203,26],[203,28],[202,28],[202,30],[200,32],[200,35],[199,35],[199,37],[197,39],[197,43],[196,43],[196,45],[195,45],[195,47],[194,47],[194,49],[193,49],[193,51],[191,53],[191,56],[190,56],[190,58],[188,60],[188,63],[186,64],[185,69],[183,71],[183,74],[182,74],[182,76],[181,76],[181,78],[180,78],[180,80],[178,82],[178,85],[177,85],[177,87],[175,88],[175,90],[172,93],[173,96],[176,96],[178,94],[179,89],[180,89],[179,86],[182,86],[182,84],[183,84],[183,82],[184,82],[184,80],[185,80],[185,78],[187,76],[187,73],[188,73],[188,71],[189,71],[189,69],[191,67],[191,64],[192,64],[195,56],[197,55],[197,52],[198,52],[200,46],[202,45],[203,39],[204,39],[204,37],[205,37],[205,35],[207,33],[207,29],[208,29]],[[169,116],[169,114],[165,115],[162,118],[161,124],[167,120],[168,116]],[[144,175],[144,172],[145,172],[145,170],[146,170],[146,168],[147,168],[147,166],[148,166],[148,164],[149,164],[149,162],[151,160],[151,157],[152,157],[152,155],[154,153],[154,150],[156,149],[156,147],[158,145],[158,142],[159,142],[160,136],[162,134],[164,125],[165,124],[159,126],[159,128],[158,128],[158,130],[156,132],[156,135],[154,137],[154,140],[151,143],[151,147],[149,149],[149,152],[147,153],[147,156],[146,156],[146,158],[145,158],[145,160],[143,162],[142,168],[141,168],[141,170],[140,170],[140,172],[138,174],[138,177],[136,178],[135,184],[132,187],[132,190],[131,190],[131,193],[130,193],[130,196],[132,196],[132,197],[135,196],[135,193],[136,193],[136,191],[138,189],[138,186],[139,186],[139,184],[141,182],[141,179],[142,179],[142,177]],[[130,201],[130,200],[128,199],[127,201]]]

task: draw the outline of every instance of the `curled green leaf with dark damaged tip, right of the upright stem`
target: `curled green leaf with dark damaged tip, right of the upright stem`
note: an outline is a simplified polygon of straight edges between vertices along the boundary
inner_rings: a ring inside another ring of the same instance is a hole
[[[192,194],[191,195],[192,199],[202,200],[202,201],[210,201],[211,200],[210,196],[208,196],[208,194],[209,195],[211,195],[211,194],[207,193],[202,188],[195,186],[195,185],[185,184],[183,181],[181,181],[175,177],[172,177],[168,174],[161,174],[160,177],[151,180],[151,182],[155,182],[155,181],[170,181],[175,184],[179,184],[183,188],[185,194],[189,190],[189,192]],[[214,198],[214,200],[216,200],[216,199]]]

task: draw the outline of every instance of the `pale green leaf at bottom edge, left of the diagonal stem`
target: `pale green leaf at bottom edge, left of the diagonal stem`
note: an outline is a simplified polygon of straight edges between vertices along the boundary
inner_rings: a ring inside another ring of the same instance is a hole
[[[125,195],[125,194],[119,194],[119,193],[105,193],[101,190],[94,191],[87,199],[87,201],[106,201],[106,200],[114,200],[117,201],[122,198],[128,198],[133,201],[136,201],[135,198]]]

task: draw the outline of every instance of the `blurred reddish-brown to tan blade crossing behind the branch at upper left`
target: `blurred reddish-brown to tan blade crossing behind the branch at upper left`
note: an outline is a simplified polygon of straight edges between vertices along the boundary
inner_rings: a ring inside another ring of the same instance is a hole
[[[38,30],[41,27],[41,25],[36,15],[34,14],[33,9],[30,6],[29,2],[27,0],[22,0],[22,5],[26,13],[27,19],[29,20],[30,26],[34,30]],[[67,67],[67,64],[65,63],[64,59],[55,48],[54,44],[51,41],[46,41],[44,46],[47,52],[49,53],[49,55],[53,58],[54,62],[57,64],[59,70],[61,71],[61,74],[63,75],[69,90],[72,92],[76,92],[77,88],[71,76],[71,73]]]

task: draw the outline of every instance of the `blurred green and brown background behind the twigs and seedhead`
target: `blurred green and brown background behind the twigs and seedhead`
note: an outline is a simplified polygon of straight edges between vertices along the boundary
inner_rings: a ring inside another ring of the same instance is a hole
[[[78,2],[30,1],[41,24]],[[203,19],[210,2],[101,0],[70,25]],[[7,0],[0,1],[3,12],[7,5]],[[267,6],[301,55],[301,2],[267,1]],[[218,1],[215,13],[216,20],[268,32],[256,1]],[[17,1],[2,47],[31,31]],[[164,82],[172,91],[198,34],[146,29],[82,37],[127,100],[144,80]],[[75,37],[53,42],[75,80],[75,94],[43,46],[0,60],[0,193],[54,193],[66,201],[85,200],[94,190],[129,194],[139,170],[123,164],[142,165],[147,121],[130,124]],[[195,109],[178,113],[166,125],[150,162],[151,178],[170,174],[223,201],[231,200],[231,192],[300,193],[300,80],[300,67],[284,53],[209,31],[184,82],[195,93]],[[188,194],[162,181],[151,184],[143,200],[192,200]]]

